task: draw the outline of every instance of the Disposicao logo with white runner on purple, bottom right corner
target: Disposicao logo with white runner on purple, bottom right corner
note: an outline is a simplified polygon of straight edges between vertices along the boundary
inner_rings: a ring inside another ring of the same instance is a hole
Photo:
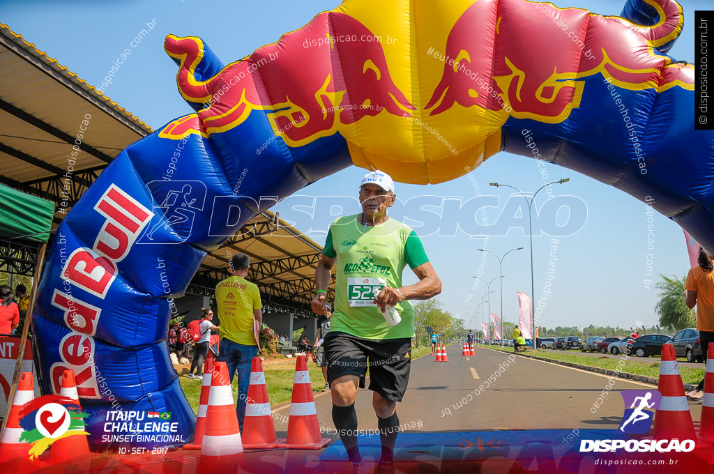
[[[617,429],[618,434],[638,435],[647,433],[652,426],[655,410],[660,408],[662,394],[659,390],[623,390],[620,392],[625,402],[625,413],[622,423]],[[629,407],[629,408],[628,408]],[[694,449],[694,440],[580,440],[580,453],[593,451],[595,453],[615,452],[624,449],[628,453],[688,453]]]

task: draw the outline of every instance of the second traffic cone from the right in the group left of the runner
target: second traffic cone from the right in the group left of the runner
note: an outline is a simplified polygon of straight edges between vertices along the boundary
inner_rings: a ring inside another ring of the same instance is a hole
[[[246,419],[243,421],[243,448],[275,448],[278,443],[271,416],[270,399],[261,358],[253,357],[251,383],[246,399]]]

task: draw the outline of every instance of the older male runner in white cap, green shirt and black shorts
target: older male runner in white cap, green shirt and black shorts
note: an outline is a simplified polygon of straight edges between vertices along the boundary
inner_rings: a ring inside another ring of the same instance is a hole
[[[416,233],[389,218],[395,201],[392,178],[367,173],[359,188],[362,213],[337,218],[330,226],[325,251],[315,271],[312,309],[323,314],[332,267],[337,262],[335,308],[325,339],[327,380],[332,393],[332,420],[345,445],[353,470],[365,467],[357,446],[357,390],[364,388],[369,364],[369,389],[378,418],[382,455],[378,473],[393,473],[393,449],[399,427],[396,402],[409,381],[414,310],[406,300],[426,300],[441,293],[441,281],[429,263]],[[408,265],[419,282],[402,286]],[[396,308],[401,322],[390,326],[383,316]],[[369,359],[369,363],[367,360]]]

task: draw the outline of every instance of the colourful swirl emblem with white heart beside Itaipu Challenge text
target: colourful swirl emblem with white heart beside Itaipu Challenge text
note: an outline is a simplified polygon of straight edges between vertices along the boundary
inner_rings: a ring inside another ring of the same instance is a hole
[[[30,459],[37,458],[52,443],[70,436],[89,435],[84,430],[87,415],[64,395],[44,395],[23,405],[20,411],[21,443],[31,443]]]

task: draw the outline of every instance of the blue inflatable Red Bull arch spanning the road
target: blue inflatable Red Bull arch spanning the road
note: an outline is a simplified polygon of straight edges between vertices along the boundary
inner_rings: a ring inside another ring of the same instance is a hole
[[[195,112],[121,151],[59,226],[34,308],[44,391],[74,370],[95,447],[188,442],[164,343],[174,298],[264,196],[346,166],[439,183],[518,153],[620,188],[714,249],[714,133],[695,131],[693,66],[666,54],[682,27],[673,0],[620,16],[347,0],[227,66],[168,36]],[[146,428],[148,412],[164,425]]]

